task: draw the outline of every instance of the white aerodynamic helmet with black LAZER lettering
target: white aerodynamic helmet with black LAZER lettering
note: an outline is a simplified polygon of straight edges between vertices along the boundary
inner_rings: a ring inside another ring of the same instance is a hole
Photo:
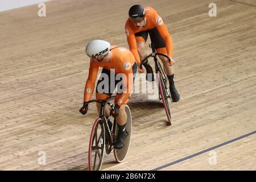
[[[110,50],[110,43],[105,40],[92,40],[85,48],[86,55],[93,59],[101,61]]]

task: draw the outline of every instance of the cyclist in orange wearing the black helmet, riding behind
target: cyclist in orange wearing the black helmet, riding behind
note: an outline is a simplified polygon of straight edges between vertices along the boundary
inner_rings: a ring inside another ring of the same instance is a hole
[[[175,61],[172,59],[172,39],[158,12],[149,6],[131,6],[129,10],[129,18],[125,24],[125,32],[130,51],[133,52],[138,67],[141,64],[141,60],[147,56],[144,52],[144,46],[147,41],[148,34],[150,35],[151,42],[156,48],[156,52],[164,53],[170,57],[171,62],[169,64],[166,57],[159,56],[164,66],[164,72],[170,82],[172,101],[179,101],[180,95],[174,85]],[[151,66],[148,64],[148,61],[146,61],[143,66],[147,71],[147,81],[154,81],[154,75],[152,74],[153,71]],[[139,72],[144,72],[144,69],[139,69]]]

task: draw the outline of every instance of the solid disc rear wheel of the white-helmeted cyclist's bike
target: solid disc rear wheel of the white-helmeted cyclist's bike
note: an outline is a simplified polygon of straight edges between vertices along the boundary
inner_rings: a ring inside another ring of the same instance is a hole
[[[127,105],[125,106],[125,111],[127,114],[127,121],[125,125],[125,131],[126,131],[125,145],[123,146],[123,148],[119,150],[114,149],[114,157],[117,163],[121,163],[123,162],[123,160],[125,160],[129,150],[130,140],[131,140],[132,120],[131,120],[131,111],[129,106]],[[115,130],[115,136],[117,136],[117,133],[118,133],[118,130]]]

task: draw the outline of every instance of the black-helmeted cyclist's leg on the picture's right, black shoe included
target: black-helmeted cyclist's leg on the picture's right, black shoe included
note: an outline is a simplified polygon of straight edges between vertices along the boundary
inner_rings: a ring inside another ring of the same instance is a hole
[[[166,43],[164,42],[162,36],[160,36],[157,28],[153,28],[150,31],[150,39],[156,48],[156,52],[167,55]],[[171,92],[172,101],[177,102],[180,100],[180,95],[177,92],[174,85],[174,65],[172,66],[168,65],[168,60],[164,56],[159,56],[159,59],[163,63],[164,72],[166,73],[168,77],[168,81],[170,83],[170,92]]]

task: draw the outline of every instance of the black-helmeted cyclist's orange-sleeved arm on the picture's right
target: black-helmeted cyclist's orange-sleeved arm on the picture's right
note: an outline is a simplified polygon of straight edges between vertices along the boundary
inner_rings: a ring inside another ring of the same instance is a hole
[[[162,18],[159,15],[155,17],[156,17],[156,21],[155,21],[156,28],[158,29],[160,35],[162,36],[162,38],[164,39],[164,42],[166,43],[167,55],[169,57],[172,57],[173,44],[172,44],[171,35],[168,32],[166,24],[163,23]]]

